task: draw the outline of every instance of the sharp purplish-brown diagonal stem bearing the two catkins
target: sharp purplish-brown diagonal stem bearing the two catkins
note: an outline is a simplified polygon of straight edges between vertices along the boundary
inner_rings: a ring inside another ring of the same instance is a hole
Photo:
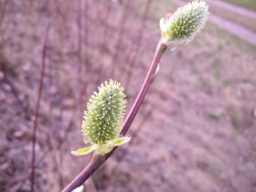
[[[123,123],[120,133],[121,135],[124,135],[133,123],[133,119],[144,101],[146,92],[148,91],[152,81],[155,79],[155,70],[166,48],[167,47],[159,41],[155,50],[154,59],[147,72],[141,91],[138,93],[138,96],[133,103],[133,107]],[[82,185],[112,155],[116,148],[117,147],[114,147],[113,150],[106,155],[92,155],[89,164],[61,192],[71,192],[75,188],[80,187],[80,185]]]

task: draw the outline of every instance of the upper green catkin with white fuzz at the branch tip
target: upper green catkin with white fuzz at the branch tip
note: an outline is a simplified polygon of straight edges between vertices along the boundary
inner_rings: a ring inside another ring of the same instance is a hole
[[[179,7],[174,15],[168,14],[160,20],[162,43],[187,44],[205,26],[207,17],[208,5],[204,1]]]

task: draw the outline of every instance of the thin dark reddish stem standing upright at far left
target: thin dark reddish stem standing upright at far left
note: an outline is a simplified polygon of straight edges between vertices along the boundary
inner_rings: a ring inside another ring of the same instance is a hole
[[[48,47],[48,32],[49,32],[50,25],[48,23],[47,31],[45,35],[45,42],[43,47],[42,53],[42,63],[41,63],[41,74],[40,74],[40,81],[39,81],[39,89],[37,94],[37,103],[35,109],[35,117],[33,120],[33,133],[32,133],[32,160],[31,160],[31,173],[30,173],[30,191],[34,191],[35,186],[35,169],[36,169],[36,142],[37,142],[37,121],[40,109],[40,101],[43,91],[43,82],[45,77],[45,66],[46,66],[46,54],[47,54],[47,47]]]

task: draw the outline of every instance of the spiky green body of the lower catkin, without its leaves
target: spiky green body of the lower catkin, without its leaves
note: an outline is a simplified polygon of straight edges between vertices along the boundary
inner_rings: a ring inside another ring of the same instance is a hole
[[[120,83],[110,80],[94,92],[84,112],[81,131],[93,144],[106,144],[120,131],[125,107],[125,95]]]

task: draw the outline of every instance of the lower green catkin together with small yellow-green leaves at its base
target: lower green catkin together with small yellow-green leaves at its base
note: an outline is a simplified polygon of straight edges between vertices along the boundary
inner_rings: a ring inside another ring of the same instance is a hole
[[[95,151],[104,155],[114,146],[128,143],[130,137],[120,137],[126,100],[120,83],[110,80],[101,84],[87,104],[87,111],[81,125],[81,132],[86,137],[85,144],[91,146],[72,151],[72,155],[88,155]]]

